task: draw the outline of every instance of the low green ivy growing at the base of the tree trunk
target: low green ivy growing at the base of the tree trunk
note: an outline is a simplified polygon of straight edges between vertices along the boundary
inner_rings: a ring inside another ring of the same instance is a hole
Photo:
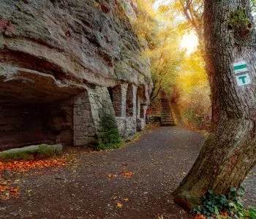
[[[192,210],[192,215],[205,215],[207,218],[250,218],[256,219],[256,210],[250,207],[248,210],[241,201],[244,188],[230,188],[226,195],[217,195],[208,191],[206,196],[201,198],[202,204]],[[226,212],[227,216],[222,214]]]

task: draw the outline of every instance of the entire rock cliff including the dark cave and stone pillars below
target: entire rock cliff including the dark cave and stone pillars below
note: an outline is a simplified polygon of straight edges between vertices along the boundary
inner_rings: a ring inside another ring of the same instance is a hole
[[[151,77],[132,1],[0,4],[0,150],[95,144],[105,115],[123,137],[143,127]]]

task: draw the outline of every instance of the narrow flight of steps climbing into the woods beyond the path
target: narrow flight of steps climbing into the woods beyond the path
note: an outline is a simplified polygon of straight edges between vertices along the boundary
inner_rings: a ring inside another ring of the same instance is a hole
[[[168,99],[161,99],[161,126],[176,126],[173,120],[172,112],[170,111],[170,104]]]

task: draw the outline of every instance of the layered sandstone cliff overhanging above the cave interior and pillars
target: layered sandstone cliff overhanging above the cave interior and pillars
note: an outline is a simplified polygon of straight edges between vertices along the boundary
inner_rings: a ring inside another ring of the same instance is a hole
[[[148,63],[118,1],[0,4],[0,101],[65,99],[84,84],[150,82]]]

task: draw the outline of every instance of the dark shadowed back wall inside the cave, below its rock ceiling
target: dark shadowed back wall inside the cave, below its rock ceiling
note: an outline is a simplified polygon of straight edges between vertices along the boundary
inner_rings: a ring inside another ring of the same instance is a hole
[[[1,104],[0,151],[38,144],[72,145],[73,101]]]

